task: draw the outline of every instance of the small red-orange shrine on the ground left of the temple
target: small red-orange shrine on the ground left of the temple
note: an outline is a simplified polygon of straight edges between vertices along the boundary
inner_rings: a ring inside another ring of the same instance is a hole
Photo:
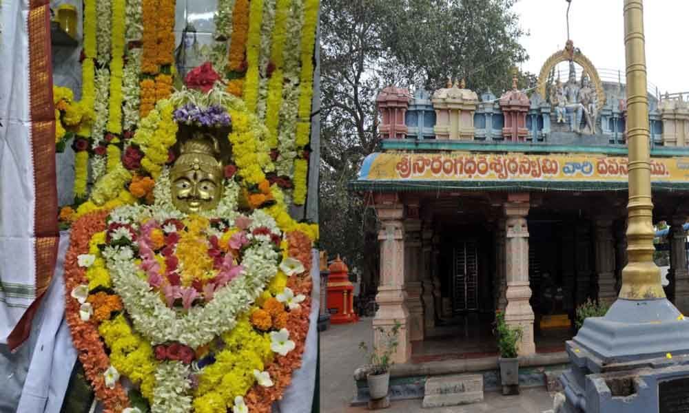
[[[331,324],[356,323],[359,317],[354,313],[354,286],[349,282],[349,268],[338,255],[328,270],[328,310]]]

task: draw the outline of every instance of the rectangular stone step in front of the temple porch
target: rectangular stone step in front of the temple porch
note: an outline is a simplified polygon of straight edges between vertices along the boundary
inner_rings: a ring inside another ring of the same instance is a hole
[[[482,374],[429,377],[422,407],[445,407],[483,401]]]

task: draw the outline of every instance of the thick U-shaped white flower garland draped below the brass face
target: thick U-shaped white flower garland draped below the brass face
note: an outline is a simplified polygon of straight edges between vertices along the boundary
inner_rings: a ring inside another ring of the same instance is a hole
[[[276,226],[274,220],[271,222],[266,218],[267,214],[263,215],[254,213],[251,218],[269,227]],[[129,222],[132,221],[139,220]],[[136,330],[153,344],[179,341],[197,348],[216,335],[232,330],[236,317],[249,310],[254,300],[263,293],[267,282],[277,273],[279,254],[269,237],[268,240],[264,240],[264,237],[249,235],[249,239],[256,240],[257,244],[245,251],[240,262],[244,268],[240,276],[216,291],[214,299],[208,304],[191,308],[186,314],[168,308],[160,295],[152,291],[148,282],[140,277],[141,270],[134,262],[132,248],[107,246],[103,257],[114,289],[122,298]]]

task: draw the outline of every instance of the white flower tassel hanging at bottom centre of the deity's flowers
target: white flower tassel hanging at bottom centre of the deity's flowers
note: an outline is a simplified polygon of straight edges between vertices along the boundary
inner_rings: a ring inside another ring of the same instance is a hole
[[[189,390],[189,367],[181,361],[166,361],[156,368],[151,413],[185,413],[192,411]]]

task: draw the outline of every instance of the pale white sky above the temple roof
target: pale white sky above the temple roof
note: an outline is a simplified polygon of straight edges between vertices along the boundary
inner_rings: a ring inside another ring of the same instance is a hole
[[[570,38],[590,59],[604,81],[624,83],[624,0],[572,0],[569,11]],[[567,40],[566,0],[517,0],[513,10],[522,29],[531,34],[520,43],[529,60],[522,70],[536,75],[551,54],[562,50]],[[686,52],[689,0],[645,0],[644,33],[646,67],[650,90],[689,92],[689,54]],[[603,70],[601,70],[603,69]],[[562,73],[566,81],[567,73]]]

